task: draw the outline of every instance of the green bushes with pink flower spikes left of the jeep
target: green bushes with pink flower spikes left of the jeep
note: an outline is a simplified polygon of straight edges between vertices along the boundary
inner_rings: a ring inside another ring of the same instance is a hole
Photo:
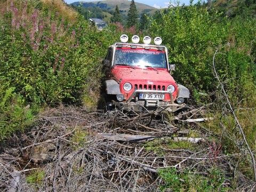
[[[119,36],[54,5],[7,1],[0,10],[1,138],[30,125],[35,111],[25,106],[81,103],[99,90],[101,58]]]

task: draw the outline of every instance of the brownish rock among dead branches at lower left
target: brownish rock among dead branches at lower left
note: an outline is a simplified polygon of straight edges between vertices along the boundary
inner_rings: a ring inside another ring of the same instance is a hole
[[[35,146],[31,149],[29,159],[34,162],[38,161],[51,161],[55,155],[56,146],[53,143],[46,142],[41,145]]]

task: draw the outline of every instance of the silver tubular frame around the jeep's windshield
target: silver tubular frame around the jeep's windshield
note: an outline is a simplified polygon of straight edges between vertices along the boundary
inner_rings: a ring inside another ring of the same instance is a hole
[[[118,47],[117,47],[118,45]],[[112,62],[111,62],[111,67],[114,67],[115,64],[114,64],[114,61],[115,61],[115,53],[116,53],[116,49],[120,49],[121,47],[125,47],[126,49],[127,48],[130,48],[132,49],[132,46],[136,46],[137,48],[139,49],[145,49],[147,50],[148,48],[150,50],[153,50],[153,49],[156,49],[157,50],[161,50],[161,51],[164,51],[165,53],[165,60],[166,60],[166,68],[164,69],[167,69],[168,71],[170,71],[170,66],[169,66],[169,60],[168,60],[168,52],[167,52],[167,47],[166,46],[159,46],[159,45],[146,45],[146,44],[131,44],[131,43],[115,43],[114,44],[114,50],[113,50],[113,55],[112,55]],[[147,49],[146,49],[147,48]],[[121,48],[122,49],[122,48]],[[122,65],[119,65],[119,66],[122,66]],[[160,68],[158,68],[160,69]]]

